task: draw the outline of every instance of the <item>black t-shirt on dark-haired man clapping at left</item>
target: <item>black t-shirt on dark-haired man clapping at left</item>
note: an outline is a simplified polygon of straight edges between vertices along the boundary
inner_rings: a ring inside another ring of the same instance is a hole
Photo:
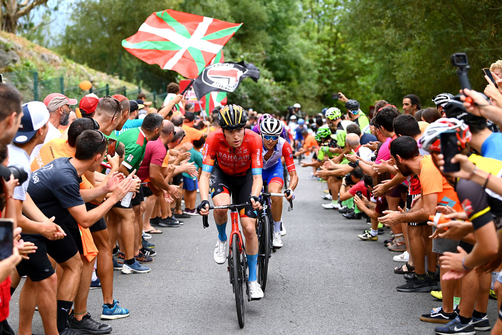
[[[80,177],[70,158],[57,158],[32,173],[28,194],[47,216],[55,216],[55,224],[63,225],[70,215],[68,207],[83,205]]]

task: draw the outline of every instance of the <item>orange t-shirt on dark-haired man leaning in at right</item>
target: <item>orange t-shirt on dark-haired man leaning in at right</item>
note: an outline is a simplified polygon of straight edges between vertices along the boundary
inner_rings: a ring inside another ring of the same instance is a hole
[[[457,211],[463,210],[457,192],[439,172],[430,155],[424,156],[420,161],[420,175],[418,178],[420,179],[423,195],[437,193],[438,205],[450,206]]]

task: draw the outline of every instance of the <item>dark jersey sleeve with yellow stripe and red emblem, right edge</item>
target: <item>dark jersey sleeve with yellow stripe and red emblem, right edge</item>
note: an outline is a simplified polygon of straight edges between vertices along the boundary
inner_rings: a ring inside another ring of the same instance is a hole
[[[474,230],[478,230],[490,221],[495,222],[497,230],[500,229],[500,225],[497,225],[499,220],[496,219],[502,216],[500,200],[490,197],[483,187],[471,180],[459,179],[455,191]]]

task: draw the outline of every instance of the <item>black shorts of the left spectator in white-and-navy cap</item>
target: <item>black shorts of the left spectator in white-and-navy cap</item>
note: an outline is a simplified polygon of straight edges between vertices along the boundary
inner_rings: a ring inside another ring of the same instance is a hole
[[[37,282],[49,278],[54,274],[54,269],[47,257],[47,247],[44,237],[40,235],[22,234],[25,242],[32,242],[38,247],[34,254],[30,254],[30,259],[23,259],[16,266],[19,276],[28,276],[31,281]]]

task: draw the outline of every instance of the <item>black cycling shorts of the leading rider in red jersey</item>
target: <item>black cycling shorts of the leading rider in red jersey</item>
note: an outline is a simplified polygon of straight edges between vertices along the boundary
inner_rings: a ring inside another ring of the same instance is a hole
[[[248,206],[239,209],[240,217],[257,218],[258,215],[249,202],[251,190],[253,187],[253,174],[251,169],[246,171],[243,176],[230,176],[214,165],[211,172],[211,198],[221,193],[227,193],[232,196],[237,203],[249,203]],[[232,200],[234,201],[234,200]]]

